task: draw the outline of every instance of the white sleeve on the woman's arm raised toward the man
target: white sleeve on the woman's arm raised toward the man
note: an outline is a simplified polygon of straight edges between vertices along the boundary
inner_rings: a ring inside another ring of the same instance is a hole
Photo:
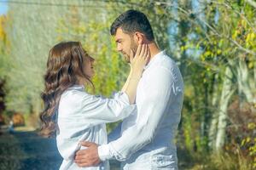
[[[130,105],[128,95],[124,92],[114,94],[113,99],[90,95],[84,92],[67,95],[59,106],[59,119],[78,120],[80,123],[90,122],[90,126],[107,122],[117,122],[129,116],[136,105]],[[73,113],[71,115],[71,113]]]

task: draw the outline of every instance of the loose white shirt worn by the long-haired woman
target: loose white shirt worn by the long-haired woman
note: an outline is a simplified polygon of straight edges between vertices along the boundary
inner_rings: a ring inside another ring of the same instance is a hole
[[[80,141],[86,140],[96,144],[107,144],[105,123],[117,122],[136,109],[130,105],[125,93],[113,95],[113,99],[105,99],[84,91],[83,86],[74,85],[61,94],[57,110],[58,133],[57,148],[63,158],[60,169],[81,169],[74,162],[77,150],[83,149]],[[108,161],[98,167],[82,169],[109,169]]]

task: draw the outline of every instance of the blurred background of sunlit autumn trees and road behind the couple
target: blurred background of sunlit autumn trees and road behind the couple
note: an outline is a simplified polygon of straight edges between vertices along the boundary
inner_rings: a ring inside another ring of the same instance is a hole
[[[109,27],[130,8],[147,14],[183,74],[179,169],[256,169],[255,0],[0,0],[0,169],[58,169],[55,139],[37,134],[49,49],[82,42],[96,59],[95,94],[110,96],[129,68]]]

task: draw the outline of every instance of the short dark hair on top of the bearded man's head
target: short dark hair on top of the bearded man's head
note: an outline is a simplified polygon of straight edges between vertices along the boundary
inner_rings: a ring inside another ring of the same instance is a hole
[[[118,28],[121,28],[127,34],[139,31],[145,34],[148,41],[154,40],[154,34],[148,18],[140,11],[130,9],[120,14],[119,17],[113,21],[110,27],[110,34],[114,36]]]

